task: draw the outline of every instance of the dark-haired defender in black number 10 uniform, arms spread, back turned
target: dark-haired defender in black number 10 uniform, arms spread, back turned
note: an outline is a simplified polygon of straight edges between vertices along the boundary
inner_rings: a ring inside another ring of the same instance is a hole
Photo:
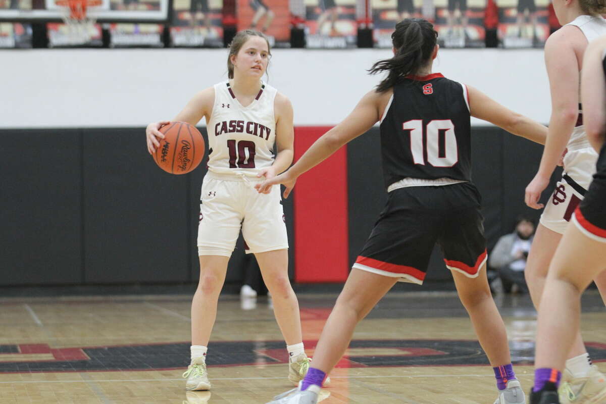
[[[287,197],[299,175],[381,122],[387,205],[328,317],[307,376],[298,390],[276,397],[271,404],[315,404],[356,323],[396,282],[422,283],[436,243],[444,251],[445,266],[453,270],[461,302],[493,366],[499,389],[496,403],[525,403],[486,277],[481,199],[471,183],[470,116],[536,142],[545,141],[547,128],[472,87],[431,74],[438,54],[437,35],[425,20],[399,22],[391,36],[393,58],[370,69],[371,73],[387,71],[387,78],[293,167],[256,186],[264,192],[271,185],[284,184]]]

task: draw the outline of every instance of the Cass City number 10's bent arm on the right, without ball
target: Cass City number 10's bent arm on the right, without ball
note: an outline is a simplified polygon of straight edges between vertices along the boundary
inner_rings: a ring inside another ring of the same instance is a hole
[[[274,101],[274,112],[276,114],[276,146],[278,154],[271,165],[261,170],[258,177],[265,176],[271,179],[286,170],[293,162],[295,141],[295,128],[293,127],[293,105],[290,100],[281,93],[276,94]],[[267,187],[265,194],[270,193],[271,187]]]

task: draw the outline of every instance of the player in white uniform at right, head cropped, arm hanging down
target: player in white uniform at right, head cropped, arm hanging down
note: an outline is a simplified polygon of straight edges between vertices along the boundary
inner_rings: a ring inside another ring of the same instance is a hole
[[[552,111],[541,165],[526,188],[525,202],[529,207],[543,207],[538,203],[539,197],[562,154],[565,150],[567,152],[564,156],[564,175],[547,201],[525,270],[528,289],[537,308],[551,258],[596,170],[598,154],[589,144],[582,125],[579,78],[588,42],[606,34],[606,21],[600,16],[606,12],[603,1],[554,0],[553,7],[564,27],[553,33],[545,43]],[[602,298],[606,298],[606,273],[600,274],[595,281]],[[564,397],[562,402],[593,402],[591,397],[606,389],[606,378],[591,365],[580,333],[568,358],[560,388]],[[538,378],[535,391],[541,388],[542,383],[545,380]]]

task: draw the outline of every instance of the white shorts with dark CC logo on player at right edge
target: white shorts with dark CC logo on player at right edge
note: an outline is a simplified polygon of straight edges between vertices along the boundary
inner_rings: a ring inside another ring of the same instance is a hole
[[[583,199],[596,172],[598,153],[592,147],[568,150],[564,156],[564,174],[547,200],[541,224],[564,234],[568,222]]]

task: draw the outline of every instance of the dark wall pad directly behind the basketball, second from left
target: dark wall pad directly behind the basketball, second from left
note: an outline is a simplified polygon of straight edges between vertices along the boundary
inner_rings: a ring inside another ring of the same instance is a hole
[[[142,128],[83,139],[84,282],[187,282],[189,174],[160,170]]]

